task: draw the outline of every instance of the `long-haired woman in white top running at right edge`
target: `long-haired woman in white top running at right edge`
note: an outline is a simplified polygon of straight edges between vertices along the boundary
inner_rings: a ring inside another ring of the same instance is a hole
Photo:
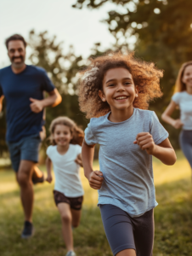
[[[179,107],[180,119],[172,119],[172,112]],[[176,129],[182,127],[179,143],[192,169],[192,61],[182,65],[178,72],[175,94],[162,119]]]

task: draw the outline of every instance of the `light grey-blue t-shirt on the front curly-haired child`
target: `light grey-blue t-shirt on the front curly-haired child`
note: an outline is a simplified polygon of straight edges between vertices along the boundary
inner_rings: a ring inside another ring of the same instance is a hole
[[[85,130],[88,145],[98,143],[99,166],[104,182],[98,204],[111,204],[138,217],[157,206],[152,155],[133,144],[139,132],[150,132],[155,144],[168,133],[155,112],[134,108],[133,115],[119,123],[110,122],[110,113],[93,118]]]

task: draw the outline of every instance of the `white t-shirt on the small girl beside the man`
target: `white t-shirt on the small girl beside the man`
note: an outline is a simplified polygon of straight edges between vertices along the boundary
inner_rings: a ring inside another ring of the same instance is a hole
[[[54,190],[67,197],[78,197],[84,194],[79,177],[80,166],[76,164],[76,156],[82,153],[82,147],[70,144],[65,154],[59,154],[56,146],[49,146],[47,154],[54,166]]]

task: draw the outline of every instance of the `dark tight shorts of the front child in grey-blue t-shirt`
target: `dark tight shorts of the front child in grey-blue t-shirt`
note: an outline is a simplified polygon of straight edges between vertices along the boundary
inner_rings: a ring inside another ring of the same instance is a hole
[[[113,255],[136,250],[137,256],[152,256],[154,241],[153,209],[138,218],[113,205],[99,205],[104,231]]]

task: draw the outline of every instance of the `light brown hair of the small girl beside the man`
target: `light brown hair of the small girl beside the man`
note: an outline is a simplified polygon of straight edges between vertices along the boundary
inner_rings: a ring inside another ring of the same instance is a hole
[[[54,138],[53,138],[54,129],[55,129],[56,125],[68,126],[70,128],[70,131],[72,134],[72,139],[71,139],[70,143],[78,144],[78,145],[82,146],[82,141],[84,138],[84,131],[82,131],[82,129],[79,128],[73,120],[69,119],[66,116],[60,116],[51,122],[51,125],[49,127],[49,131],[50,131],[51,135],[48,139],[50,140],[52,145],[56,145],[56,143],[54,142]]]

